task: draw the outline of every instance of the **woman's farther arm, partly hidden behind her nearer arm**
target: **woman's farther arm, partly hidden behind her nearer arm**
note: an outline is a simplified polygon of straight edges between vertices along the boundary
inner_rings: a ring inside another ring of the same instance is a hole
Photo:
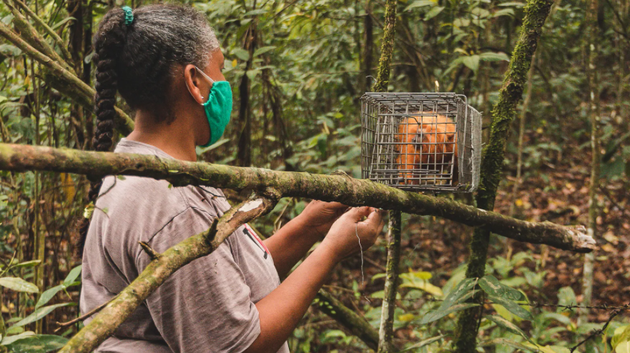
[[[280,278],[284,278],[348,206],[338,202],[312,201],[304,211],[265,240]]]

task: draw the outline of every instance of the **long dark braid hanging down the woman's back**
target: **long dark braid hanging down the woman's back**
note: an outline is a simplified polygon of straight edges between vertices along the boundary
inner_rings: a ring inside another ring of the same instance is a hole
[[[96,94],[94,112],[96,114],[96,131],[92,146],[96,151],[109,151],[114,137],[114,118],[116,117],[116,91],[118,90],[118,58],[127,35],[124,24],[124,12],[112,9],[105,15],[94,36],[94,57],[96,64]],[[96,203],[102,180],[90,179],[88,199]],[[90,220],[85,218],[79,229],[78,255],[83,253],[85,239],[90,227]]]

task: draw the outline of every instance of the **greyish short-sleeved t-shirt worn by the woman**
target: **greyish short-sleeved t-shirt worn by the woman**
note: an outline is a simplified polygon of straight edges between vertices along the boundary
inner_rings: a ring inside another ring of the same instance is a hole
[[[115,152],[173,158],[127,139]],[[138,242],[164,252],[208,229],[228,209],[223,192],[212,187],[106,177],[83,253],[81,313],[112,299],[151,262]],[[244,225],[212,254],[175,272],[97,351],[242,352],[260,334],[255,303],[279,284],[264,243]],[[286,343],[279,352],[289,352]]]

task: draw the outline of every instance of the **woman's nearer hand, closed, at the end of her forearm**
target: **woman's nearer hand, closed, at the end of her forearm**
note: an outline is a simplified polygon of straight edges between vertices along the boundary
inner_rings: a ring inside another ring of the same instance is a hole
[[[367,250],[374,245],[376,238],[383,230],[384,214],[384,211],[372,207],[350,209],[332,225],[321,246],[329,247],[337,261],[361,249]],[[361,245],[359,245],[357,235]]]

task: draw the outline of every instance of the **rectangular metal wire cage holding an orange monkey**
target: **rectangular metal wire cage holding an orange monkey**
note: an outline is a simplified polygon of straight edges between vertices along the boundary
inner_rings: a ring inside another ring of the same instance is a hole
[[[363,178],[408,191],[473,192],[481,114],[455,93],[365,93]]]

